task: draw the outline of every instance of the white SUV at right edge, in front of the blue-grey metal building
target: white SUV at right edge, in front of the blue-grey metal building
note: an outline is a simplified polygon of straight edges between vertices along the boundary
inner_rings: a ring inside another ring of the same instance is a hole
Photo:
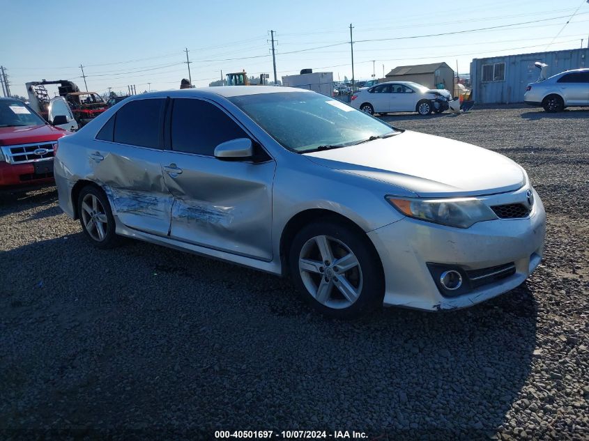
[[[523,102],[556,112],[565,107],[589,106],[589,68],[567,70],[528,84]]]

